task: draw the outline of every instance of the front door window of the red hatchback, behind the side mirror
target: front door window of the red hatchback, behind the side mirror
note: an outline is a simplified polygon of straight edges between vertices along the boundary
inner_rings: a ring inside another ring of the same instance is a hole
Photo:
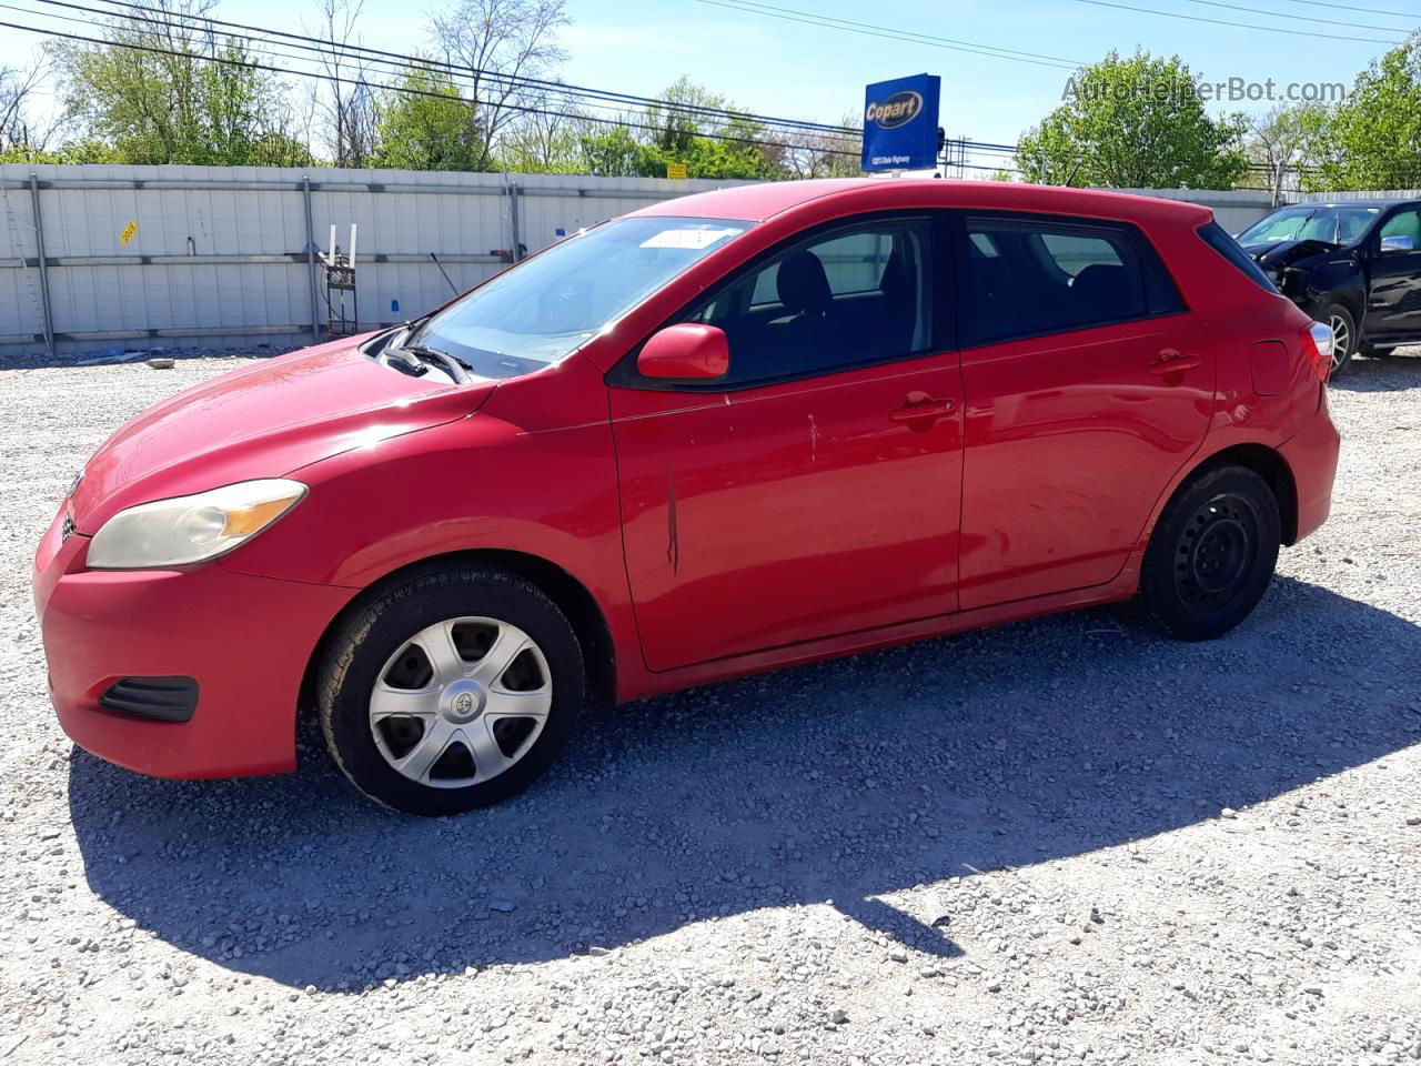
[[[732,279],[681,321],[725,331],[730,372],[718,388],[926,351],[934,303],[929,246],[926,219],[831,230]]]

